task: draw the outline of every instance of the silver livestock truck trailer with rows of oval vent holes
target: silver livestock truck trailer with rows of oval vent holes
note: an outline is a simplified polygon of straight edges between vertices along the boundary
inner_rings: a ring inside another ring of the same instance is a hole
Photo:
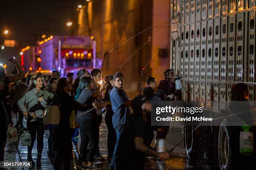
[[[225,114],[231,88],[239,82],[248,86],[248,100],[255,100],[255,15],[255,0],[171,0],[171,67],[186,85],[183,100]],[[194,128],[185,126],[190,159],[216,160],[221,170],[242,163],[235,155],[239,127],[222,119]]]

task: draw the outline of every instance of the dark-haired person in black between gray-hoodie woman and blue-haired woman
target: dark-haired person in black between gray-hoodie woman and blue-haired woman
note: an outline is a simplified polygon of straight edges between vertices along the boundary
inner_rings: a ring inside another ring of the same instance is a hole
[[[99,92],[94,92],[86,103],[83,105],[76,102],[70,96],[72,92],[72,85],[68,82],[67,78],[60,78],[57,82],[57,91],[54,96],[54,102],[59,105],[61,112],[61,120],[58,128],[55,130],[57,135],[57,153],[54,160],[54,169],[61,170],[63,163],[64,170],[70,170],[70,160],[72,156],[72,143],[71,139],[74,134],[74,129],[70,127],[70,115],[72,110],[85,111],[92,105],[92,101],[99,95]]]

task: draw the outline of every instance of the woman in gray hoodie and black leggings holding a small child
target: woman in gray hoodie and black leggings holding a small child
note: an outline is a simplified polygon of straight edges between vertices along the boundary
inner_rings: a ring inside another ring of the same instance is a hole
[[[28,88],[28,92],[18,101],[18,105],[20,110],[23,112],[26,118],[28,118],[28,114],[31,115],[30,109],[36,105],[46,106],[46,101],[43,97],[36,97],[36,93],[44,90],[44,77],[41,75],[36,75],[30,87]],[[40,103],[39,103],[40,102]],[[28,105],[26,108],[25,105]],[[33,113],[35,117],[32,120],[27,120],[27,127],[29,133],[31,134],[31,146],[28,146],[28,157],[27,160],[32,162],[32,165],[35,165],[32,159],[32,149],[35,140],[37,140],[37,159],[36,159],[36,167],[41,167],[41,153],[44,147],[44,124],[43,124],[43,115],[44,115],[44,108],[41,107],[40,109],[36,110]],[[36,138],[37,136],[37,138]]]

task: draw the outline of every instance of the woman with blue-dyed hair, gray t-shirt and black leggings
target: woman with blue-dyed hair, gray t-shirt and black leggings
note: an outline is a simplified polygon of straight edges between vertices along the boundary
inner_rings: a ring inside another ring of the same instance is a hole
[[[91,77],[82,77],[77,87],[77,93],[75,99],[77,102],[84,104],[92,95],[94,88]],[[96,169],[97,167],[93,163],[101,163],[100,161],[94,161],[94,157],[97,151],[97,113],[96,109],[102,109],[106,105],[111,104],[110,101],[100,104],[98,101],[94,101],[92,105],[84,112],[77,111],[76,122],[79,124],[79,134],[81,137],[80,154],[82,160],[82,166],[87,169]],[[90,150],[88,163],[86,159],[87,145],[90,140]]]

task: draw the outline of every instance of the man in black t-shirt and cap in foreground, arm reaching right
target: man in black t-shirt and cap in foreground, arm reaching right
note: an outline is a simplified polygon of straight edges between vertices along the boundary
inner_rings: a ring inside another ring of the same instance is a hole
[[[133,117],[129,120],[120,137],[117,150],[117,170],[142,170],[146,154],[164,160],[169,153],[158,153],[147,146],[150,129],[151,103],[144,96],[138,96],[131,105]]]

